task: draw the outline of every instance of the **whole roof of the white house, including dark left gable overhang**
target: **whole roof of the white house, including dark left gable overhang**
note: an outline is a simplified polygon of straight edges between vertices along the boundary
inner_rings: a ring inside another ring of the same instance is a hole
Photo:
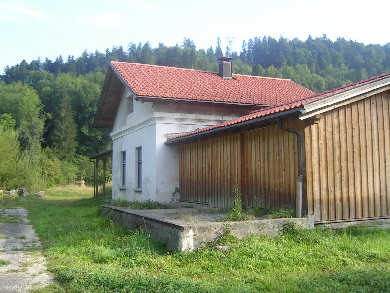
[[[113,61],[106,74],[93,125],[113,125],[123,85],[131,90],[136,100],[145,101],[270,106],[313,94],[289,79],[240,74],[232,77],[223,79],[216,72]]]

